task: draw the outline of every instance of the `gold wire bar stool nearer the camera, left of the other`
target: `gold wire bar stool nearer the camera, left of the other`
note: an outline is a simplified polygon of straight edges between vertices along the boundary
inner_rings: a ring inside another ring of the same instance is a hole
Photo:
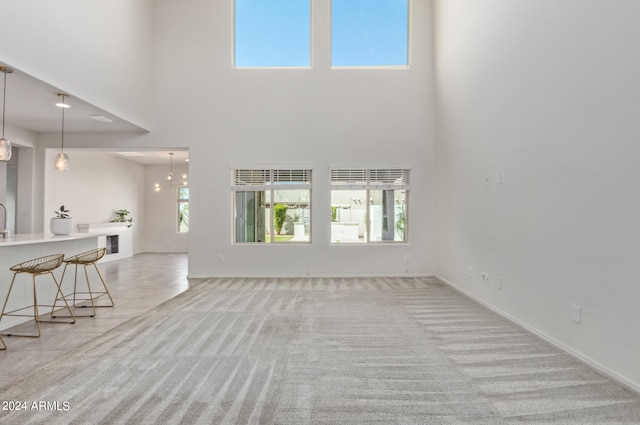
[[[34,258],[33,260],[28,260],[19,264],[16,264],[15,266],[9,268],[9,270],[11,270],[13,272],[13,279],[11,279],[11,285],[9,285],[9,292],[7,292],[7,297],[4,300],[4,305],[2,306],[2,312],[0,313],[0,320],[2,320],[2,318],[4,316],[20,316],[20,317],[33,317],[33,320],[36,323],[36,329],[37,329],[37,333],[35,335],[33,334],[14,334],[14,333],[5,333],[5,335],[9,335],[9,336],[26,336],[26,337],[31,337],[31,338],[37,338],[40,336],[40,323],[60,323],[59,321],[54,321],[54,320],[42,320],[41,316],[40,316],[40,311],[38,310],[38,307],[51,307],[51,316],[52,319],[55,317],[54,313],[55,313],[55,307],[56,307],[56,303],[58,298],[64,300],[64,297],[62,296],[62,291],[60,290],[60,283],[58,283],[58,280],[56,279],[56,277],[53,274],[53,270],[57,269],[58,267],[60,267],[60,265],[62,264],[62,260],[64,259],[64,254],[54,254],[54,255],[47,255],[45,257],[39,257],[39,258]],[[27,306],[27,307],[21,307],[15,310],[11,310],[11,311],[6,311],[7,309],[7,303],[9,302],[9,298],[11,297],[11,290],[13,289],[13,284],[15,283],[16,280],[16,276],[20,273],[29,273],[31,275],[31,281],[33,283],[33,305]],[[49,274],[51,275],[51,278],[53,279],[54,283],[56,284],[56,302],[54,302],[53,305],[51,304],[39,304],[38,303],[38,296],[37,296],[37,291],[36,291],[36,276],[41,276],[41,275],[45,275],[45,274]],[[71,311],[71,308],[69,307],[69,304],[67,304],[67,301],[64,300],[64,307],[60,307],[60,309],[62,308],[66,308],[69,311],[69,316],[72,320],[70,323],[75,323],[75,317],[73,316],[73,312]],[[27,309],[33,309],[32,310],[32,314],[26,314],[26,313],[20,313],[23,310],[27,310]],[[3,343],[4,345],[4,343]]]

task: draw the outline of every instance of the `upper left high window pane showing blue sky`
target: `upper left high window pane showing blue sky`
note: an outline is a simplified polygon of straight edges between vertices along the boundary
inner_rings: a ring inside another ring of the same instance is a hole
[[[310,65],[310,0],[235,0],[235,66]]]

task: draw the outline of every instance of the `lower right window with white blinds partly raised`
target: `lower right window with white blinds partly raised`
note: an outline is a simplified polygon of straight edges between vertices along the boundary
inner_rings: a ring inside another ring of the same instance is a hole
[[[407,241],[409,169],[331,169],[331,243]]]

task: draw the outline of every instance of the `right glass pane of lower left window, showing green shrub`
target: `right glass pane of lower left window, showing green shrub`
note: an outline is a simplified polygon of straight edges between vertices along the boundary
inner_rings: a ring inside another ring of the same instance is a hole
[[[308,242],[310,190],[274,190],[273,242]]]

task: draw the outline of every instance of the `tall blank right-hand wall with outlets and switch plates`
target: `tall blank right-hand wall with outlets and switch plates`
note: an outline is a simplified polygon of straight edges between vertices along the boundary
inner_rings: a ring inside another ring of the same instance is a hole
[[[438,275],[639,389],[640,2],[435,16]]]

